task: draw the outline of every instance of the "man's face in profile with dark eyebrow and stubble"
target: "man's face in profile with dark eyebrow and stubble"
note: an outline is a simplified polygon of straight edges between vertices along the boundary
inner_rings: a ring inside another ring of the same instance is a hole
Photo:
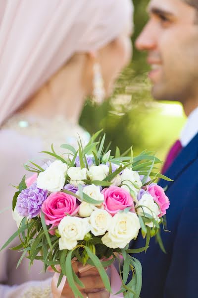
[[[151,0],[149,20],[136,41],[148,51],[156,99],[198,96],[198,10],[185,0]]]

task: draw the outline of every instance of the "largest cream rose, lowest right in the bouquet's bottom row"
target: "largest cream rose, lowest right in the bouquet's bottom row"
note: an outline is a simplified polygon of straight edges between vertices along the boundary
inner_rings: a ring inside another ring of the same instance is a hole
[[[140,228],[136,213],[117,213],[111,221],[108,232],[101,238],[102,243],[110,248],[124,248],[138,236]]]

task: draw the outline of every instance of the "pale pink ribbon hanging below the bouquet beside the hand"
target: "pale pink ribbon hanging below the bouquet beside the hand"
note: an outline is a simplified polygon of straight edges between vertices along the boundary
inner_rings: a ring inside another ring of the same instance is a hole
[[[114,295],[115,293],[120,291],[122,282],[121,282],[120,276],[113,264],[110,266],[110,270],[111,270],[111,291],[112,291],[112,294],[110,294],[109,298],[123,298],[124,296],[122,293],[120,293],[118,295]],[[61,281],[59,287],[57,288],[56,285],[58,283],[59,276],[60,276],[59,273],[55,273],[52,278],[51,291],[52,291],[53,298],[61,298],[61,293],[62,293],[62,290],[64,288],[64,285],[65,285],[65,282],[67,279],[66,276],[63,276],[62,281]]]

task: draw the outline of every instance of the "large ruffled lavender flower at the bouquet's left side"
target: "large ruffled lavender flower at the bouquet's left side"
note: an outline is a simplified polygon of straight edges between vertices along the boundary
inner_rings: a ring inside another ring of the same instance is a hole
[[[22,190],[18,195],[16,202],[16,210],[22,217],[32,219],[39,215],[41,206],[46,200],[48,190],[37,187],[37,183],[33,183],[29,188]]]

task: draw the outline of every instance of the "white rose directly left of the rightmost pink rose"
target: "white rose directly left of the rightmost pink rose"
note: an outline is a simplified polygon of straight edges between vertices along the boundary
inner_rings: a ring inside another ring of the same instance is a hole
[[[137,213],[141,216],[144,216],[144,212],[151,215],[157,223],[160,222],[160,219],[157,217],[160,214],[160,210],[157,204],[154,203],[153,197],[151,195],[144,194],[141,200],[136,204],[136,208],[143,206],[142,208],[137,209]],[[149,227],[153,227],[153,223],[146,223]]]

